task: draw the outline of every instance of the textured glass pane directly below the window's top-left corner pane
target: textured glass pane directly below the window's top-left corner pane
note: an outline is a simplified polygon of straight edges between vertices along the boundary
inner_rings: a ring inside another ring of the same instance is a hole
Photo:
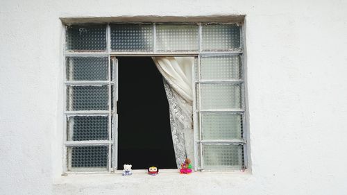
[[[108,80],[108,58],[67,57],[67,80]]]

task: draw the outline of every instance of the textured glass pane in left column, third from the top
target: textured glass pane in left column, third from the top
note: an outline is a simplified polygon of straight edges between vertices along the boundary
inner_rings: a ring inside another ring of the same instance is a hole
[[[108,110],[108,85],[67,87],[67,110]]]

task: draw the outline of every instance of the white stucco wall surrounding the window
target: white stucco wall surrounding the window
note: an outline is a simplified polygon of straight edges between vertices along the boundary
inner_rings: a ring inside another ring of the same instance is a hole
[[[246,15],[251,173],[60,176],[59,17],[136,15]],[[347,194],[346,45],[342,0],[0,0],[0,194]]]

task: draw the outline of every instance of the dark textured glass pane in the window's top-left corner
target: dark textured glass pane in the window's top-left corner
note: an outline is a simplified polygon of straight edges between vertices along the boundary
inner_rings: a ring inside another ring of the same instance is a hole
[[[106,26],[67,26],[66,49],[74,51],[105,51]]]

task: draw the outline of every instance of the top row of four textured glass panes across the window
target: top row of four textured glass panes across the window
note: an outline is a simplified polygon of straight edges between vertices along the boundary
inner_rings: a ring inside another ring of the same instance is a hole
[[[108,30],[109,29],[109,30]],[[108,24],[66,27],[68,53],[242,53],[238,24]],[[108,50],[110,49],[110,50]]]

